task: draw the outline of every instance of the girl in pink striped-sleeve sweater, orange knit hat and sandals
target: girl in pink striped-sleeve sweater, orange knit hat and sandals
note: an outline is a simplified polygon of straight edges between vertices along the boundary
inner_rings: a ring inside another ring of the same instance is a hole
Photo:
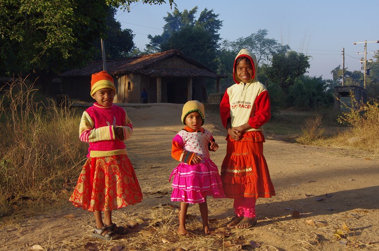
[[[92,75],[93,106],[83,112],[80,140],[88,142],[88,155],[69,201],[94,212],[91,236],[110,240],[126,228],[112,222],[112,210],[141,202],[142,192],[127,156],[125,141],[133,132],[126,111],[113,104],[113,78],[106,71]],[[104,212],[104,220],[102,218]]]

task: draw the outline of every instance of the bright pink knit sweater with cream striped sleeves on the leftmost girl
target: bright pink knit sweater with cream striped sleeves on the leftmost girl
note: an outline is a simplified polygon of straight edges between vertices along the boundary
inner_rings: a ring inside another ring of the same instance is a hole
[[[116,127],[123,129],[124,141],[116,139]],[[102,106],[94,103],[83,112],[79,127],[80,140],[90,144],[87,157],[127,154],[124,142],[132,132],[132,123],[126,111],[114,104]]]

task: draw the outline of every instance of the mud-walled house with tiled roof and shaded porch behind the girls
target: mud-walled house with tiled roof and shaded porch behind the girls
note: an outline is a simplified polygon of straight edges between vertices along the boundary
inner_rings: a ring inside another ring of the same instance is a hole
[[[149,103],[185,103],[202,100],[202,86],[211,79],[219,92],[218,75],[179,50],[107,60],[106,69],[116,86],[115,102],[142,103],[141,92],[147,92]],[[71,99],[92,101],[91,75],[103,70],[103,62],[95,62],[82,69],[74,69],[57,76],[60,92]]]

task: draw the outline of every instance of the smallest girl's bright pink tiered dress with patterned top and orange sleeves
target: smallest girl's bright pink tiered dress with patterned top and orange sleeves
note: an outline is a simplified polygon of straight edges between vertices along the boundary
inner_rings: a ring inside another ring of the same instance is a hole
[[[202,128],[193,131],[186,127],[174,137],[172,156],[181,163],[170,176],[170,180],[174,176],[171,201],[194,204],[205,202],[206,196],[225,198],[218,168],[209,158],[208,145],[211,141],[214,141],[211,133]],[[200,155],[203,161],[188,164],[193,153]]]

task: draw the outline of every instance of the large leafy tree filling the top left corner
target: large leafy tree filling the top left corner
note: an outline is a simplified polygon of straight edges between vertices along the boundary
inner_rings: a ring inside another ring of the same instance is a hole
[[[106,36],[109,6],[128,10],[134,2],[138,0],[0,1],[0,74],[58,73],[84,65],[94,58],[94,42]]]

